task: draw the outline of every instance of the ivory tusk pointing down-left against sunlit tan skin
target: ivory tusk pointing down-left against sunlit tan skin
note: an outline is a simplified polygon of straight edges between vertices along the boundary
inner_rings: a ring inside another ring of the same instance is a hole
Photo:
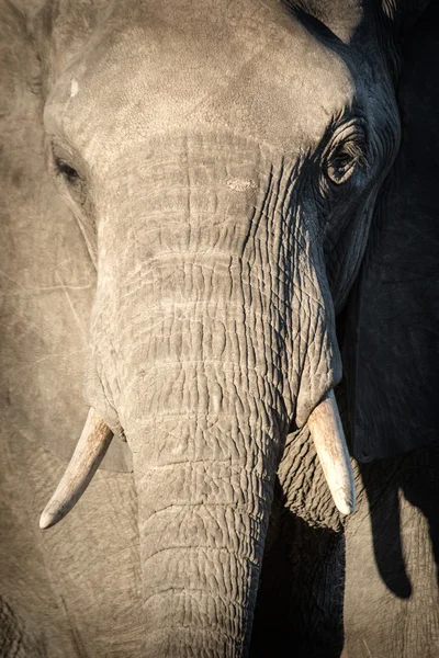
[[[40,517],[40,527],[58,523],[77,503],[106,453],[113,432],[98,411],[90,409],[81,436],[55,494]]]

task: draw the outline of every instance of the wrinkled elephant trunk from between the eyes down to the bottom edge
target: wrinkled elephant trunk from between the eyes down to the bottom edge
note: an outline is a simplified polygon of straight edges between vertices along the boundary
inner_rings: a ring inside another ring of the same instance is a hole
[[[88,397],[133,451],[150,658],[247,654],[284,438],[340,377],[296,163],[228,138],[121,156],[94,200]]]

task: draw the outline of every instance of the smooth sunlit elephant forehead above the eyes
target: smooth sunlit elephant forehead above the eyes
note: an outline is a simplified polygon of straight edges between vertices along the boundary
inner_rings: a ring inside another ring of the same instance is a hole
[[[342,58],[280,3],[248,15],[191,4],[138,3],[98,30],[47,107],[74,144],[117,151],[121,136],[130,148],[207,124],[296,150],[352,102]]]

